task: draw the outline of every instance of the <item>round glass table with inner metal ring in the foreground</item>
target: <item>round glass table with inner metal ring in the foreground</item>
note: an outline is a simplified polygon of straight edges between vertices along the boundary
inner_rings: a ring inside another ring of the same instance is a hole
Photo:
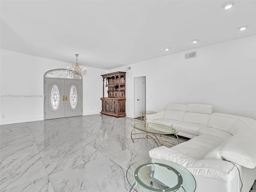
[[[132,164],[126,178],[130,192],[194,192],[196,180],[186,168],[168,160],[144,159]]]

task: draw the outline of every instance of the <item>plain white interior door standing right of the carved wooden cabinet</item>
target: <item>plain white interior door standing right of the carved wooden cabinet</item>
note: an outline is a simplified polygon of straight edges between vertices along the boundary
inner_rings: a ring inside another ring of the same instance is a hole
[[[140,117],[140,111],[146,110],[146,77],[134,78],[135,116]]]

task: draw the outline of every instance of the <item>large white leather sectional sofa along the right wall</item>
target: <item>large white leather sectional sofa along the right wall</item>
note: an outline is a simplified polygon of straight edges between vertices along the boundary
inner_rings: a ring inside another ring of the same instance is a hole
[[[256,120],[212,113],[211,105],[169,104],[147,122],[173,126],[190,140],[150,150],[151,158],[188,169],[195,192],[249,192],[256,179]]]

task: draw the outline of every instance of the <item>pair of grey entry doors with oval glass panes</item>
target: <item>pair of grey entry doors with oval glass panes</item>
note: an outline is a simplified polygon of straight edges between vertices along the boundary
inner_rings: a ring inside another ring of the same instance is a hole
[[[45,78],[45,119],[82,115],[82,80]]]

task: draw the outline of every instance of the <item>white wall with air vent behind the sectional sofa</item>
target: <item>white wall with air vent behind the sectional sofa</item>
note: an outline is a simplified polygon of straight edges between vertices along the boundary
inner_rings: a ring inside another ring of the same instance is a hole
[[[197,57],[185,60],[191,51]],[[128,66],[128,117],[135,117],[134,77],[146,76],[146,110],[164,110],[170,102],[201,103],[212,104],[214,112],[256,119],[256,35]],[[114,71],[126,66],[108,73]]]

